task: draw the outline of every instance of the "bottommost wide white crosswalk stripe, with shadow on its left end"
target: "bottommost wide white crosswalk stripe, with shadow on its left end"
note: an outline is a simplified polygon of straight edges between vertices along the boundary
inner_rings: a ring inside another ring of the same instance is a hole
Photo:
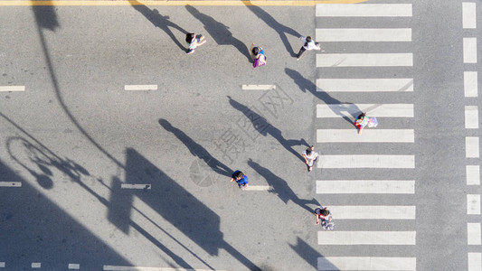
[[[317,270],[415,271],[416,257],[318,257]]]

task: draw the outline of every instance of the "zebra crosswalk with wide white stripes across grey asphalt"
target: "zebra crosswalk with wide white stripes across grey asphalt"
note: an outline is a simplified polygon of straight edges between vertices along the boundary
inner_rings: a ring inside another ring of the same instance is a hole
[[[317,194],[336,221],[336,229],[317,231],[323,255],[317,258],[318,270],[416,270],[415,249],[398,249],[417,243],[416,180],[411,178],[416,165],[416,133],[410,125],[415,117],[411,99],[416,89],[412,74],[407,74],[413,54],[394,51],[405,47],[392,46],[412,42],[411,28],[407,28],[411,14],[411,4],[317,5],[316,40],[326,50],[317,53],[317,93],[331,97],[330,101],[344,101],[326,104],[320,100],[316,107],[321,153],[317,168],[323,177],[317,180]],[[373,17],[382,26],[387,20],[389,27],[373,28]],[[354,27],[354,19],[370,27]],[[330,42],[336,42],[335,50],[328,49]],[[354,47],[356,42],[364,46]],[[367,51],[367,44],[376,46]],[[351,51],[345,52],[344,45]],[[373,51],[376,49],[381,51]],[[336,77],[330,76],[333,74]],[[396,103],[400,97],[403,103]],[[359,135],[354,126],[347,128],[346,119],[354,121],[362,112],[377,117],[380,125],[365,128]],[[364,179],[368,175],[371,177]],[[369,197],[357,201],[364,195]],[[387,201],[390,197],[404,197],[405,201]],[[343,205],[346,202],[350,205]],[[387,225],[393,223],[380,226],[383,220],[409,223],[396,223],[391,229]],[[376,249],[379,247],[383,249]],[[373,251],[377,252],[371,255]]]

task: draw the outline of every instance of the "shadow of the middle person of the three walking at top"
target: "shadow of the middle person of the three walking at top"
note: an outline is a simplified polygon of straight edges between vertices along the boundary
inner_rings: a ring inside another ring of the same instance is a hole
[[[218,43],[219,45],[232,45],[244,55],[248,61],[251,60],[250,50],[237,38],[235,38],[231,31],[229,31],[229,27],[223,23],[220,23],[213,19],[213,17],[201,13],[192,5],[185,5],[185,9],[190,13],[193,14],[194,18],[198,19],[201,23],[204,24],[204,29],[213,37],[213,40]]]

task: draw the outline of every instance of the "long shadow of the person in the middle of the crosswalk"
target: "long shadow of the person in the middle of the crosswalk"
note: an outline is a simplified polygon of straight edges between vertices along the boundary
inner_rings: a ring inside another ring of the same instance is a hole
[[[347,102],[341,102],[340,100],[331,97],[326,91],[317,91],[317,85],[311,82],[309,79],[306,79],[301,73],[299,73],[297,70],[291,70],[289,68],[285,68],[286,74],[295,81],[295,83],[298,85],[299,89],[303,92],[311,92],[315,97],[321,99],[326,103],[326,105],[340,105],[340,104],[349,104],[349,108],[341,108],[341,107],[330,107],[332,111],[340,116],[343,117],[347,122],[350,124],[354,125],[354,119],[346,116],[347,109],[351,112],[360,112],[361,109],[356,107],[353,103],[347,103]],[[322,89],[323,90],[323,89]],[[359,114],[359,113],[355,113]],[[355,115],[351,114],[351,117],[356,117]]]

